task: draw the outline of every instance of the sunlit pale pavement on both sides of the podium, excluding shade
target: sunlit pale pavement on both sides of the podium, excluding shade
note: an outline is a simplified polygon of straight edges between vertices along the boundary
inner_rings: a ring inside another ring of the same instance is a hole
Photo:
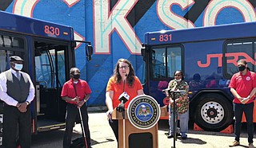
[[[105,112],[89,113],[90,135],[92,139],[92,147],[94,148],[116,148],[117,142],[114,134],[107,122]],[[173,138],[166,138],[168,125],[166,120],[158,122],[158,147],[170,148],[174,146]],[[81,133],[80,124],[74,127],[74,132]],[[235,148],[247,147],[247,134],[242,134],[240,143],[242,146]],[[190,128],[188,138],[182,140],[178,137],[175,142],[176,147],[204,147],[204,148],[220,148],[229,147],[234,141],[234,134],[224,134],[220,132],[195,131]],[[255,144],[254,144],[255,145]]]

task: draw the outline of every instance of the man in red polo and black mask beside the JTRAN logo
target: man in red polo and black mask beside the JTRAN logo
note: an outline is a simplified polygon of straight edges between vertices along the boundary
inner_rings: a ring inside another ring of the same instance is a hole
[[[254,147],[254,95],[256,93],[255,73],[250,72],[246,60],[238,60],[239,72],[234,73],[230,80],[230,92],[234,95],[234,142],[230,146],[238,146],[240,144],[240,130],[242,113],[246,115],[247,133],[249,148]]]

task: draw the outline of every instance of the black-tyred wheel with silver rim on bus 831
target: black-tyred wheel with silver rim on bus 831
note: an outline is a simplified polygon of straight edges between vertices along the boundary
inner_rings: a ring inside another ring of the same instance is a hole
[[[202,95],[195,109],[194,122],[203,130],[221,131],[233,121],[232,103],[219,94]]]

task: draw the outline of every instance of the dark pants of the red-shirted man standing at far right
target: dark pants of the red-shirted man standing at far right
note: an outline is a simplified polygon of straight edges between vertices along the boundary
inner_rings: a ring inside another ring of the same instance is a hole
[[[253,112],[254,112],[254,103],[242,104],[242,103],[233,103],[234,104],[234,136],[235,140],[239,142],[241,125],[242,125],[242,113],[245,112],[246,115],[246,124],[247,124],[247,134],[248,142],[253,143],[254,138],[254,123],[253,123]]]

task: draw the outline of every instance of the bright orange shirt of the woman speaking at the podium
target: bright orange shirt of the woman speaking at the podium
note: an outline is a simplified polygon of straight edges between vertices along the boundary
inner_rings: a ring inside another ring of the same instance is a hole
[[[129,100],[125,103],[125,108],[128,107],[130,100],[137,96],[137,91],[143,89],[140,80],[138,80],[138,77],[135,76],[134,79],[134,86],[130,87],[127,83],[125,84],[125,92],[130,96]],[[118,107],[118,104],[121,103],[118,98],[119,95],[121,95],[123,92],[123,81],[121,84],[117,84],[114,80],[114,77],[110,77],[110,80],[106,86],[106,92],[110,91],[114,91],[114,96],[112,99],[113,108]]]

